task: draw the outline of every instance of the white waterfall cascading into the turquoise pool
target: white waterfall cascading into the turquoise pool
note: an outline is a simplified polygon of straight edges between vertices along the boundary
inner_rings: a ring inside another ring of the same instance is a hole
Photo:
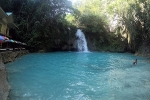
[[[84,36],[84,33],[78,29],[76,32],[76,45],[79,52],[88,52],[87,42]]]

